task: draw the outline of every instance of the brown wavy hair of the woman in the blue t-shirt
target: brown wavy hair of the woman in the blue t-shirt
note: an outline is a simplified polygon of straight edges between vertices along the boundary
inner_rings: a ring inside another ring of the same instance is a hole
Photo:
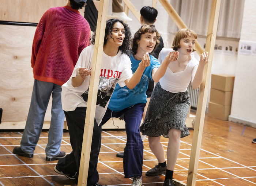
[[[138,43],[137,41],[140,40],[140,37],[142,34],[145,33],[156,33],[157,34],[157,40],[155,42],[155,47],[152,50],[152,52],[150,54],[152,54],[155,49],[157,48],[158,44],[160,43],[160,34],[158,33],[157,29],[155,28],[154,25],[148,25],[148,24],[142,24],[142,26],[140,26],[139,30],[134,34],[134,37],[132,39],[132,54],[136,54],[137,53],[137,49],[138,49]]]

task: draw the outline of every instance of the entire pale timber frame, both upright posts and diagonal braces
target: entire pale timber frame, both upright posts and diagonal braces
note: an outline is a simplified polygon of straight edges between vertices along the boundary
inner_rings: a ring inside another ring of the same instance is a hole
[[[125,3],[124,11],[128,14],[128,10],[131,10],[133,15],[135,15],[136,19],[140,22],[140,14],[133,6],[130,0],[123,0]],[[168,12],[170,17],[176,23],[179,29],[187,28],[185,23],[181,20],[180,16],[174,10],[172,5],[167,0],[159,0],[159,2],[163,5],[165,10]],[[90,88],[89,88],[89,101],[87,104],[87,112],[84,126],[84,136],[83,136],[83,147],[80,161],[80,170],[79,170],[79,179],[78,186],[86,186],[87,185],[87,176],[88,176],[88,168],[89,168],[89,159],[90,159],[90,150],[91,150],[91,141],[93,134],[93,125],[94,125],[94,115],[95,115],[95,107],[96,107],[96,97],[98,91],[98,81],[99,81],[99,72],[101,67],[101,56],[103,49],[103,39],[105,33],[105,23],[107,17],[109,0],[100,0],[99,4],[99,14],[97,21],[97,30],[96,30],[96,39],[94,45],[94,53],[93,53],[93,67],[91,69],[91,80],[90,80]],[[157,0],[153,0],[152,6],[155,7],[157,4]],[[193,141],[191,148],[191,156],[189,162],[189,170],[188,170],[188,179],[187,186],[195,186],[196,185],[196,175],[197,175],[197,167],[199,162],[199,153],[200,146],[202,141],[202,133],[203,133],[203,125],[204,125],[204,117],[206,111],[206,103],[210,82],[210,74],[211,74],[211,66],[212,66],[212,57],[214,52],[214,45],[217,33],[218,26],[218,18],[219,18],[219,8],[220,8],[221,0],[212,0],[211,2],[211,12],[210,12],[210,20],[207,31],[207,39],[206,39],[206,49],[208,52],[209,62],[204,68],[203,82],[200,85],[199,90],[199,98],[197,103],[197,112],[196,112],[196,121],[194,126],[193,133]],[[202,54],[204,50],[196,41],[197,53]],[[176,186],[186,185],[185,183],[181,183],[177,180],[174,180]]]

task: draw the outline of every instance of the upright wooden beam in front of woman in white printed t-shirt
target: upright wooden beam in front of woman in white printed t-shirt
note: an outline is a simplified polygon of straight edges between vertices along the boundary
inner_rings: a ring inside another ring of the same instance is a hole
[[[87,185],[91,141],[93,136],[96,100],[99,85],[99,73],[101,69],[103,41],[106,28],[106,19],[108,14],[108,4],[109,0],[100,0],[99,2],[99,13],[93,51],[93,65],[91,68],[91,80],[87,102],[86,118],[84,124],[83,146],[81,153],[78,186]]]

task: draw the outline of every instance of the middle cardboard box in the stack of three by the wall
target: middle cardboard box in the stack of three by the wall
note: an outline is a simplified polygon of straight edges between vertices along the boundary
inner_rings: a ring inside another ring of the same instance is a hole
[[[232,102],[232,95],[233,91],[221,91],[211,88],[210,102],[230,106]]]

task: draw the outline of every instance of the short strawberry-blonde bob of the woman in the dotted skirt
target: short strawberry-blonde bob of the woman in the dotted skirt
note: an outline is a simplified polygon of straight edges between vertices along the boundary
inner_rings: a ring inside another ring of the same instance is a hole
[[[194,37],[195,39],[197,39],[197,34],[193,30],[181,29],[176,33],[173,39],[172,49],[177,51],[180,48],[180,40],[187,37]],[[195,51],[196,49],[193,49],[193,52]]]

